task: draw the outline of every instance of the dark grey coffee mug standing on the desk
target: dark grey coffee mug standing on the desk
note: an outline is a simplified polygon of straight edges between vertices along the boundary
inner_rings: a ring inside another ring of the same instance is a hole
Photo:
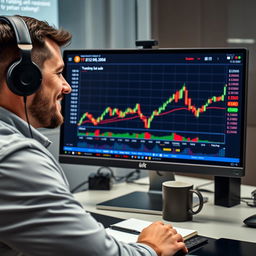
[[[203,208],[202,194],[193,189],[193,184],[181,181],[165,181],[163,190],[163,219],[167,221],[189,221]],[[199,198],[196,211],[192,207],[193,193]]]

